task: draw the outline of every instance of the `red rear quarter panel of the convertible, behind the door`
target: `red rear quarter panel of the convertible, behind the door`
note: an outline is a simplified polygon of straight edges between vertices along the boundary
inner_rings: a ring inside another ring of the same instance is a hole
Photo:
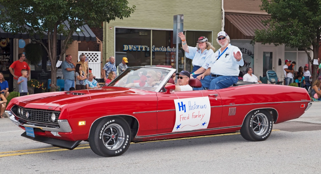
[[[301,104],[310,102],[304,88],[272,84],[253,84],[217,90],[222,99],[223,112],[220,127],[242,125],[245,116],[260,108],[273,108],[277,111],[280,123],[299,118],[305,110]],[[231,113],[235,110],[235,114]]]

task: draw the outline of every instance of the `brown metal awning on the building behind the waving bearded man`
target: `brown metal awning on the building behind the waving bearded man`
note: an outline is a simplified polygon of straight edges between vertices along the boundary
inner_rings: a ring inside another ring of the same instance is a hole
[[[253,39],[255,29],[268,29],[261,21],[271,19],[269,16],[225,14],[225,32],[230,39]]]

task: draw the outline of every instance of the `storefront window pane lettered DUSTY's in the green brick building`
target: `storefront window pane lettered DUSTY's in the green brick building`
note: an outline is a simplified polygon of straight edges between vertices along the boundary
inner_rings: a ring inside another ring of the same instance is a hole
[[[127,57],[128,66],[151,65],[151,30],[116,28],[116,66]]]

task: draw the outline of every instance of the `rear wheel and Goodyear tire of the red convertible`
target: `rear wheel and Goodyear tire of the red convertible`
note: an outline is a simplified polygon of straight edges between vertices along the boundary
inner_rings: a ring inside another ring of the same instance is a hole
[[[240,133],[246,140],[263,141],[271,135],[272,127],[273,120],[270,112],[258,109],[247,114]]]

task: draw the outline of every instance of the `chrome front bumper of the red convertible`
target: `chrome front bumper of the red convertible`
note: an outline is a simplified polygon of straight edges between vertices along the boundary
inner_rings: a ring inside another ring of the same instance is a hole
[[[39,128],[43,131],[53,131],[53,132],[71,132],[71,127],[69,125],[68,120],[58,120],[59,126],[54,126],[54,125],[47,125],[43,123],[30,123],[30,122],[25,122],[22,124],[19,122],[19,119],[17,120],[16,117],[13,115],[11,111],[5,111],[7,115],[9,116],[10,120],[18,125],[18,126],[24,126],[24,127],[30,127],[30,128]]]

